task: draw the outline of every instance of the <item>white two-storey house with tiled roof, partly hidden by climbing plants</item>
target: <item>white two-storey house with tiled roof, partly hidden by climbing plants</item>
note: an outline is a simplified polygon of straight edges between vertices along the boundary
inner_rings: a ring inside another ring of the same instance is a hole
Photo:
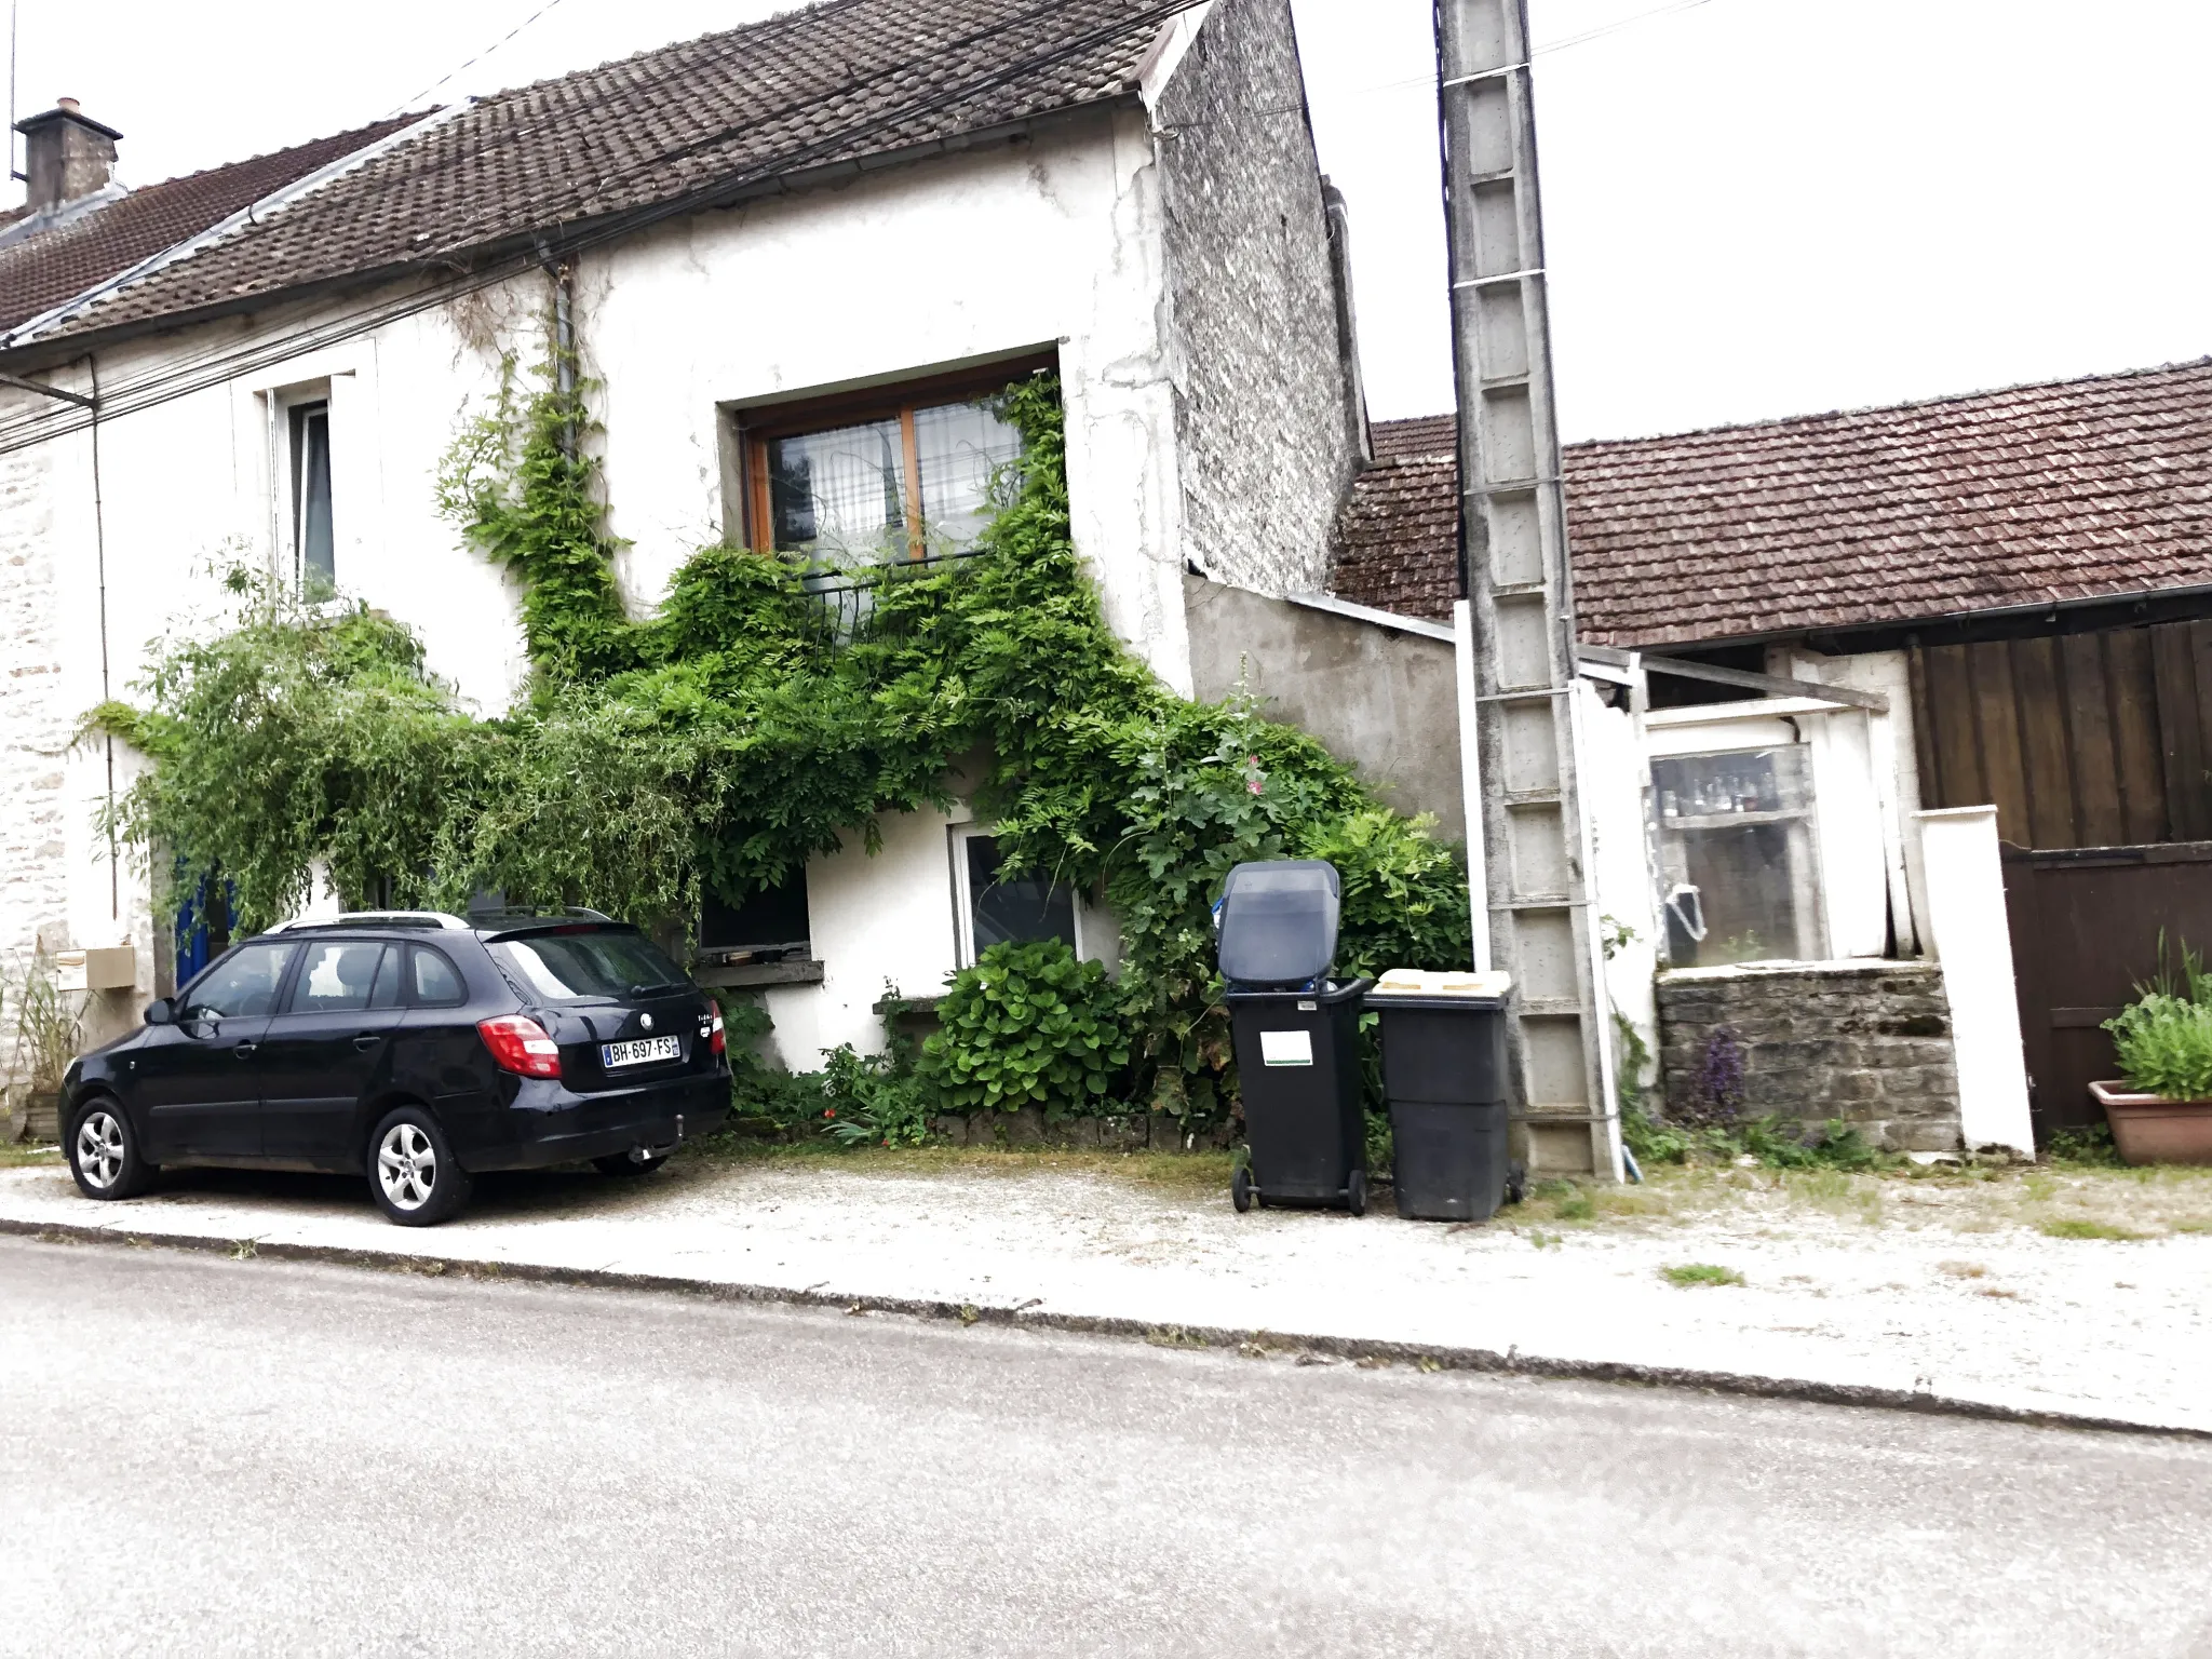
[[[635,613],[721,538],[958,544],[1013,453],[975,398],[1044,367],[1077,551],[1168,686],[1267,681],[1287,595],[1327,586],[1367,436],[1287,0],[830,0],[137,190],[128,142],[75,104],[22,131],[0,951],[108,947],[111,1022],[208,947],[95,830],[133,757],[71,748],[77,719],[144,641],[201,626],[239,557],[407,622],[434,672],[507,708],[518,593],[438,515],[434,473],[549,314],[597,383]],[[1292,622],[1440,650],[1327,599]],[[1455,781],[1427,796],[1455,805]],[[922,812],[874,856],[708,905],[699,942],[805,1066],[872,1042],[887,982],[927,995],[1009,927],[1115,949],[1079,898],[1000,883],[989,825]]]

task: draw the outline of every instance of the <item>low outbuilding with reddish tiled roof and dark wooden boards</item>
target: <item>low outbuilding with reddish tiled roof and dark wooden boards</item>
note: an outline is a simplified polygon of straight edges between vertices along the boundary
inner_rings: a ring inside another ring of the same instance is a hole
[[[1449,619],[1453,447],[1374,427],[1334,593]],[[2161,929],[2212,942],[2212,361],[1564,458],[1610,982],[1668,1099],[1725,1024],[1767,1104],[1955,1141],[1978,987],[1916,962],[1922,847],[1993,807],[2035,1128],[2097,1121],[2099,1022]]]

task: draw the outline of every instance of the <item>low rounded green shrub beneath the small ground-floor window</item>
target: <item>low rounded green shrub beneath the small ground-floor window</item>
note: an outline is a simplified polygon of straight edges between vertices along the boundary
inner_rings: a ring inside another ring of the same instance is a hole
[[[1117,991],[1060,940],[993,945],[953,975],[920,1073],[953,1113],[1097,1110],[1128,1068]]]

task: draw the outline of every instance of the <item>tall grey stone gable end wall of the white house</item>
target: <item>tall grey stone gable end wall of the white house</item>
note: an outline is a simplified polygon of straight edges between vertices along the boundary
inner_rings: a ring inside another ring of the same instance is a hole
[[[1321,593],[1363,434],[1290,2],[1219,0],[1155,131],[1186,553]]]

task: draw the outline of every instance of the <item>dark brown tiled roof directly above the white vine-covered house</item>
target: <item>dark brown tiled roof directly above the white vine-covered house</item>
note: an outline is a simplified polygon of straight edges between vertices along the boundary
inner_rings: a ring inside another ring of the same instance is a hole
[[[1190,0],[827,0],[498,93],[75,319],[113,327],[471,250],[732,179],[1110,100]]]

